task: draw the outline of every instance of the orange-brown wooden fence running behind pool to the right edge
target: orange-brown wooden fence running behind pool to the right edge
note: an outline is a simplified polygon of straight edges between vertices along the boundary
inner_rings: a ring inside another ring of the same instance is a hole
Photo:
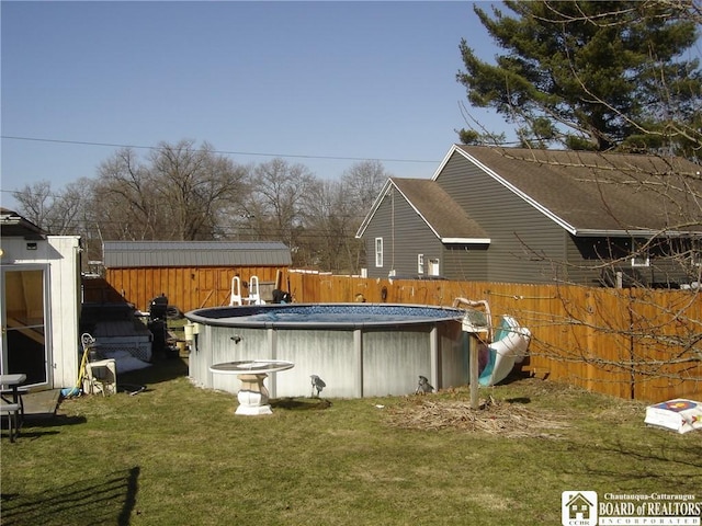
[[[588,390],[643,401],[702,396],[702,299],[684,290],[392,281],[288,273],[296,302],[451,306],[487,299],[532,332],[524,368]],[[498,320],[494,319],[494,323]]]

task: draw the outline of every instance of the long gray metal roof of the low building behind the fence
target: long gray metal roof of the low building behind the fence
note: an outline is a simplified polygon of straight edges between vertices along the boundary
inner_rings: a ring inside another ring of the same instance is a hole
[[[279,241],[104,241],[106,268],[145,266],[290,266]]]

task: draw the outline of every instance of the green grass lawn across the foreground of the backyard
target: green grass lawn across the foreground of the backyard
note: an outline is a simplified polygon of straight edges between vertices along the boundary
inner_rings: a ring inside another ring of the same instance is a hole
[[[2,524],[561,524],[566,490],[700,493],[700,436],[537,379],[423,397],[273,400],[238,416],[182,358],[138,395],[64,400],[2,439]]]

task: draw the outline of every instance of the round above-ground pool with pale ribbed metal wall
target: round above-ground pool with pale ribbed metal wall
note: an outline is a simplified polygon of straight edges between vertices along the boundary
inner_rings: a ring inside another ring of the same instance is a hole
[[[210,367],[254,359],[295,364],[267,378],[272,398],[310,396],[313,375],[330,398],[407,395],[419,376],[437,389],[468,381],[460,309],[290,304],[197,309],[185,317],[194,323],[190,376],[206,388],[238,392],[236,376]]]

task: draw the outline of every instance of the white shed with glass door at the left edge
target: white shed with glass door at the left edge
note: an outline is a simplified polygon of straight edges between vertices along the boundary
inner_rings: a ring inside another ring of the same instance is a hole
[[[80,237],[50,236],[0,208],[0,370],[24,373],[33,389],[77,382],[81,252]]]

